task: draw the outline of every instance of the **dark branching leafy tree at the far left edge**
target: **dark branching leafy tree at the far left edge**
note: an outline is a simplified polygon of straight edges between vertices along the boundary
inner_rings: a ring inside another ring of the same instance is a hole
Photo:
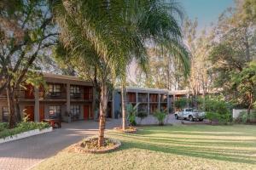
[[[44,50],[55,44],[57,33],[52,23],[51,1],[2,1],[0,3],[0,93],[6,90],[9,127],[15,127],[20,112],[15,90]]]

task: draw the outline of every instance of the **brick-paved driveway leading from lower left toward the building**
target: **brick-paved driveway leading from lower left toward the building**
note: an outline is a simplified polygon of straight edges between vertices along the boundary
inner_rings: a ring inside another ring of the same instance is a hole
[[[120,120],[107,122],[107,128],[120,125]],[[0,170],[29,169],[38,162],[97,133],[98,122],[63,123],[62,128],[26,139],[0,144]]]

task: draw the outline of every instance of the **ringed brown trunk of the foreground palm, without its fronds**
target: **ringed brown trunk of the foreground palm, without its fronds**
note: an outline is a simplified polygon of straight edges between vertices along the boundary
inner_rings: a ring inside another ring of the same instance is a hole
[[[101,147],[104,144],[104,133],[106,126],[106,112],[108,105],[108,88],[106,82],[102,82],[101,96],[100,96],[100,124],[99,124],[99,136],[98,146]]]

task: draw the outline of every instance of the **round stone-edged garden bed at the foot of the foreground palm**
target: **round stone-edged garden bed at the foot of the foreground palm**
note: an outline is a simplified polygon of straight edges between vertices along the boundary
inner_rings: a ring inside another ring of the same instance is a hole
[[[67,151],[73,152],[73,153],[81,153],[81,154],[86,154],[86,153],[99,154],[99,153],[106,153],[112,150],[116,150],[121,145],[121,142],[119,140],[105,138],[103,146],[98,147],[97,140],[98,140],[97,137],[84,139],[81,142],[77,144],[73,144],[70,147],[68,147]]]

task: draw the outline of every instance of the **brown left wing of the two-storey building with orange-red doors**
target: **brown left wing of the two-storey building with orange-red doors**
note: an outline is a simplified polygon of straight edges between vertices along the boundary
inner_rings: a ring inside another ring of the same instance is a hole
[[[78,77],[44,74],[47,90],[27,85],[16,93],[22,116],[40,122],[48,118],[60,118],[64,122],[90,120],[95,117],[95,90],[91,82]],[[111,101],[108,102],[111,117]],[[9,120],[6,94],[0,94],[0,122]]]

